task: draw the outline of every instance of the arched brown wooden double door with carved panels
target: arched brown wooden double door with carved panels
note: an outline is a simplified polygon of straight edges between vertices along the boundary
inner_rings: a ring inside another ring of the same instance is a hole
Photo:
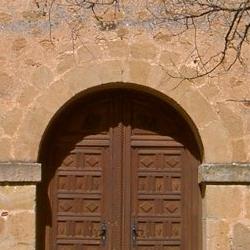
[[[52,123],[40,158],[39,249],[201,249],[199,150],[163,101],[85,96]]]

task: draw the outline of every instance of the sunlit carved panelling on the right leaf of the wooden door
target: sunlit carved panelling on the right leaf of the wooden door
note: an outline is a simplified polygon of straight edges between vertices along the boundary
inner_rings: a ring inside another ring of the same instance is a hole
[[[136,244],[138,249],[180,250],[183,148],[147,144],[152,141],[141,141],[141,147],[133,148],[132,207],[138,230]]]

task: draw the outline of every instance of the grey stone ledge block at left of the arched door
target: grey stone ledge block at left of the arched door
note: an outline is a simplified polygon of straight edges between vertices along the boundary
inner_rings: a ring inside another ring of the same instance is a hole
[[[41,164],[0,162],[0,182],[40,182]]]

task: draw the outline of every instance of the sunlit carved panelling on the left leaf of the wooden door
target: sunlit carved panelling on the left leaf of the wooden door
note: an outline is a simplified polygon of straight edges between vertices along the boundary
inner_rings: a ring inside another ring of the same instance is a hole
[[[100,230],[108,213],[104,202],[110,199],[103,183],[108,163],[107,147],[76,146],[57,168],[55,249],[104,249]]]

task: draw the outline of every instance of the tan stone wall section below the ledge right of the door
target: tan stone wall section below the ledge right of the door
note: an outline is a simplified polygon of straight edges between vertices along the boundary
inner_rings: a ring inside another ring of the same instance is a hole
[[[249,186],[207,186],[203,210],[206,249],[249,249],[249,194]]]

